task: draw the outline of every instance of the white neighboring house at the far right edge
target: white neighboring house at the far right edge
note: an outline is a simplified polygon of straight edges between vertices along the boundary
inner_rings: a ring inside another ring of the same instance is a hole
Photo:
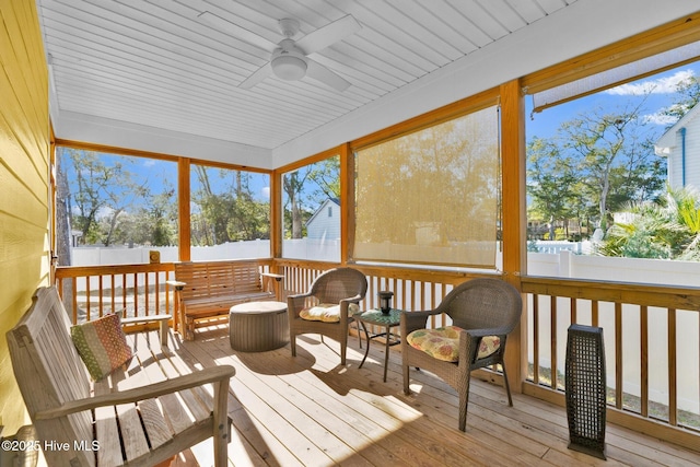
[[[670,127],[656,141],[654,151],[668,157],[667,180],[672,188],[700,189],[700,105]]]

